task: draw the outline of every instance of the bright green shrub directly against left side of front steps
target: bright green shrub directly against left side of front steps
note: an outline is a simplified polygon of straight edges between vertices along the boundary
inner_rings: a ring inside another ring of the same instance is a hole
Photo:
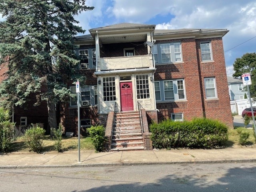
[[[92,138],[92,144],[94,145],[96,152],[103,150],[104,142],[107,141],[105,138],[105,129],[103,126],[91,126],[88,128],[90,137]]]

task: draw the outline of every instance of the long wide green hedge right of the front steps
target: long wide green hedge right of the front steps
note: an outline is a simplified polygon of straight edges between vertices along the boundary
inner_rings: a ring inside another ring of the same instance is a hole
[[[206,118],[191,122],[165,120],[150,125],[151,139],[156,148],[173,147],[212,148],[228,140],[228,128],[217,120]]]

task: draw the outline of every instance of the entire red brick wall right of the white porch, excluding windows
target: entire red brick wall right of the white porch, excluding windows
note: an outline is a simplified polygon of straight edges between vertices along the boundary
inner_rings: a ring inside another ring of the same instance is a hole
[[[200,42],[206,40],[211,40],[212,44],[214,62],[211,63],[201,62]],[[184,78],[187,101],[158,103],[158,121],[171,118],[171,113],[183,113],[185,120],[205,115],[206,118],[218,119],[233,128],[222,38],[187,38],[157,42],[172,41],[181,41],[183,63],[156,65],[154,79]],[[204,77],[216,78],[218,100],[206,101]]]

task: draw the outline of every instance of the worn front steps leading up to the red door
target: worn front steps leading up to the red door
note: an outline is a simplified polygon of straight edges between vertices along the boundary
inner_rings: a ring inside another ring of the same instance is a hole
[[[143,150],[139,112],[116,113],[112,130],[112,151]]]

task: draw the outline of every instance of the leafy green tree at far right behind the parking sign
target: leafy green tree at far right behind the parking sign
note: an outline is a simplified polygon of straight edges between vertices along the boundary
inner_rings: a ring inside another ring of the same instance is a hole
[[[236,58],[233,66],[235,71],[233,77],[239,78],[244,73],[251,74],[250,94],[252,98],[256,99],[256,53],[246,53],[241,58]]]

